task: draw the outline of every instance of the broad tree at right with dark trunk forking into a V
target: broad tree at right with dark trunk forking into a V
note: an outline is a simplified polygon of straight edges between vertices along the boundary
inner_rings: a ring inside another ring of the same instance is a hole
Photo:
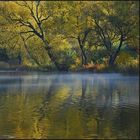
[[[93,41],[104,46],[109,56],[109,65],[113,66],[121,48],[130,39],[131,32],[137,28],[135,3],[98,2],[93,3],[90,11],[94,23]]]

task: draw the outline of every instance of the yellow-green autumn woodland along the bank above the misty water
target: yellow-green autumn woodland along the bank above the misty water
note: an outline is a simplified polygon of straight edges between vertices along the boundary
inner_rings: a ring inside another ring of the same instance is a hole
[[[138,73],[139,2],[0,2],[0,69]]]

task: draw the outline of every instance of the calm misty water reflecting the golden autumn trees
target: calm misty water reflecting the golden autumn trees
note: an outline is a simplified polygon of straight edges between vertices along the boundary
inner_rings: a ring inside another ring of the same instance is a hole
[[[139,79],[1,72],[0,138],[139,138]]]

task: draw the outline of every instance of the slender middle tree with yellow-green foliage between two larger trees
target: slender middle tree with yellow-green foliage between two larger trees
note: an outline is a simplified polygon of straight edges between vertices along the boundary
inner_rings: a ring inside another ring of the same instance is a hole
[[[86,41],[91,31],[88,18],[88,6],[90,2],[69,1],[61,2],[60,20],[61,34],[68,41],[75,42],[80,50],[81,62],[88,63],[88,55],[86,53]]]

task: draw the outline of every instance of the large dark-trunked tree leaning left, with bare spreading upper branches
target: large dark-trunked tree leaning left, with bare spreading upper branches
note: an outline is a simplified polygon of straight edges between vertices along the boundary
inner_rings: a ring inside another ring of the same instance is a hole
[[[7,11],[7,17],[19,27],[19,35],[25,41],[32,37],[38,37],[43,42],[43,47],[47,52],[51,62],[58,70],[61,66],[57,62],[57,58],[53,54],[52,46],[49,42],[50,33],[47,32],[51,24],[53,24],[53,15],[49,2],[40,1],[21,1],[14,2],[18,7],[18,11]]]

